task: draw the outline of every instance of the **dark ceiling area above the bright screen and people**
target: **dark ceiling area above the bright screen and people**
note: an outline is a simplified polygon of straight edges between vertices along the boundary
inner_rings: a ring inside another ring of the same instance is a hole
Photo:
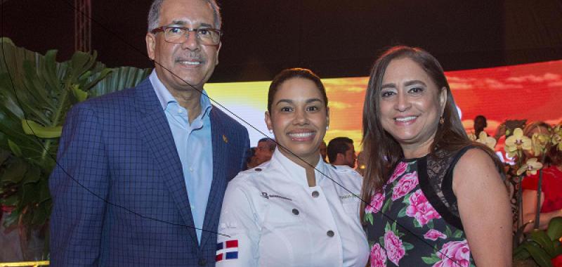
[[[151,66],[144,41],[150,2],[92,1],[92,47],[101,62]],[[394,44],[425,48],[445,70],[562,59],[562,0],[349,2],[220,1],[226,34],[211,81],[268,80],[285,67],[366,76]],[[3,35],[41,53],[56,48],[65,60],[74,49],[73,5],[4,1]]]

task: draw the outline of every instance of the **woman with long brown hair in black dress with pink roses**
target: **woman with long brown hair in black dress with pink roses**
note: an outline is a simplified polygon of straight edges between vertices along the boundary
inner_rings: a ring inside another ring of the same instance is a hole
[[[371,266],[511,266],[502,164],[469,141],[433,56],[396,46],[374,63],[363,142]]]

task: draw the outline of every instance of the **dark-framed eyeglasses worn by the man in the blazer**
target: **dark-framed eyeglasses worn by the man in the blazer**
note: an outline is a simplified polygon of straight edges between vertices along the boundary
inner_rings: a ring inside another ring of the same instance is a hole
[[[221,30],[213,28],[200,28],[200,29],[190,29],[187,27],[179,26],[162,26],[150,31],[152,34],[157,32],[164,32],[164,40],[169,43],[183,44],[188,41],[189,33],[195,32],[197,40],[201,41],[201,44],[207,46],[216,46],[221,42],[221,35],[223,33]]]

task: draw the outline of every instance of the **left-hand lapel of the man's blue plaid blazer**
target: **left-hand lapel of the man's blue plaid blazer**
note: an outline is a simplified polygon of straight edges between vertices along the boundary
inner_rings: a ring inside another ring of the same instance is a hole
[[[191,214],[188,191],[185,188],[185,179],[181,162],[171,134],[166,115],[162,110],[158,97],[154,92],[149,79],[136,87],[136,110],[139,114],[137,129],[143,136],[145,145],[155,159],[155,166],[161,169],[161,178],[170,190],[176,207],[181,214],[183,224],[190,227],[191,240],[195,247],[198,246],[197,235]]]

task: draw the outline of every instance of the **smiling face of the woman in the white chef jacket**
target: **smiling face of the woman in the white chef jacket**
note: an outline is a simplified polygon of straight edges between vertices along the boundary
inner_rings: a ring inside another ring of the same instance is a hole
[[[280,151],[301,166],[306,165],[301,159],[313,166],[318,163],[327,119],[327,107],[320,90],[310,79],[299,77],[279,85],[270,112],[266,112],[266,124],[273,130]]]

